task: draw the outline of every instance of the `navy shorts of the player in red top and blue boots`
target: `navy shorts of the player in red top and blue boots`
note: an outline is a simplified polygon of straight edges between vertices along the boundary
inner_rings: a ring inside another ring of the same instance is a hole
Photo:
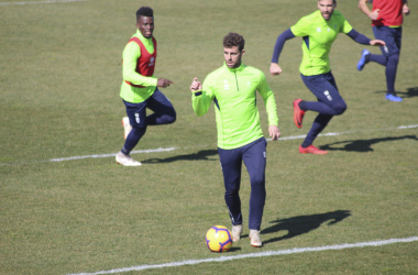
[[[386,43],[386,46],[381,47],[383,55],[389,57],[400,53],[402,26],[375,25],[373,26],[373,33],[376,40],[383,40]]]

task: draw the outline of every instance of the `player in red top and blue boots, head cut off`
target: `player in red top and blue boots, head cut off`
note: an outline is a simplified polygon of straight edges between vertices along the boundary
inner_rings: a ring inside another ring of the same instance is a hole
[[[373,11],[369,9],[367,1],[360,0],[359,8],[372,20],[374,36],[383,40],[386,46],[381,47],[383,55],[371,54],[367,50],[363,50],[358,69],[362,70],[369,62],[385,66],[387,87],[385,98],[391,101],[403,101],[396,95],[395,79],[400,54],[403,14],[409,14],[407,0],[374,0]]]

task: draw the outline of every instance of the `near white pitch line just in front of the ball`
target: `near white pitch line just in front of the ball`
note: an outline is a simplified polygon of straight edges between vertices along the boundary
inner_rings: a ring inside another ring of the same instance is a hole
[[[418,241],[418,237],[403,238],[403,239],[389,239],[383,241],[372,241],[372,242],[359,242],[359,243],[345,243],[345,244],[334,244],[334,245],[326,245],[326,246],[317,246],[317,248],[300,248],[300,249],[289,249],[289,250],[278,250],[278,251],[265,251],[258,253],[250,253],[250,254],[241,254],[234,256],[220,256],[220,257],[209,257],[202,260],[187,260],[183,262],[172,262],[166,264],[154,264],[154,265],[138,265],[124,268],[116,268],[111,271],[101,271],[96,273],[77,273],[69,275],[99,275],[99,274],[116,274],[116,273],[124,273],[124,272],[133,272],[133,271],[144,271],[144,270],[155,270],[155,268],[165,268],[165,267],[175,267],[183,265],[196,265],[201,263],[212,263],[212,262],[226,262],[249,257],[264,257],[264,256],[277,256],[277,255],[287,255],[287,254],[296,254],[296,253],[305,253],[305,252],[320,252],[328,250],[346,250],[354,248],[366,248],[366,246],[382,246],[393,243],[408,243]]]

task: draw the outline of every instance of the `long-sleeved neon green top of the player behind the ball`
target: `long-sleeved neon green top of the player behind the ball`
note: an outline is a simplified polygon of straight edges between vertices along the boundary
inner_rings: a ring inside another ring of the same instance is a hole
[[[230,69],[223,64],[207,76],[202,91],[191,96],[193,109],[199,117],[215,102],[220,148],[238,148],[263,138],[256,91],[264,100],[268,124],[277,125],[274,94],[263,72],[254,67],[241,64],[239,68]]]

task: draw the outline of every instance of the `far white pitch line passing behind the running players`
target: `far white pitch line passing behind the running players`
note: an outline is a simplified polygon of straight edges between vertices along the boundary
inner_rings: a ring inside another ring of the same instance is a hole
[[[376,129],[376,130],[354,130],[354,131],[340,132],[340,133],[323,133],[323,134],[319,134],[319,136],[337,136],[337,135],[344,135],[344,134],[352,134],[352,133],[393,131],[393,130],[404,130],[404,129],[414,129],[414,128],[418,128],[418,125],[396,127],[396,128]],[[305,136],[306,135],[283,136],[283,138],[279,138],[278,141],[299,140],[299,139],[305,139]],[[267,141],[272,141],[272,139],[267,139]],[[196,145],[196,146],[189,146],[189,147],[167,147],[167,148],[160,147],[160,148],[152,148],[152,150],[139,150],[139,151],[132,151],[131,154],[161,153],[161,152],[170,152],[170,151],[175,151],[175,150],[185,150],[185,148],[204,147],[204,146],[207,146],[207,145]],[[51,158],[51,160],[46,160],[46,161],[33,161],[33,162],[20,162],[20,163],[0,163],[0,166],[26,164],[26,163],[58,163],[58,162],[77,161],[77,160],[85,160],[85,158],[112,157],[116,155],[117,155],[117,153],[109,153],[109,154],[95,154],[95,155],[84,155],[84,156],[59,157],[59,158]]]

